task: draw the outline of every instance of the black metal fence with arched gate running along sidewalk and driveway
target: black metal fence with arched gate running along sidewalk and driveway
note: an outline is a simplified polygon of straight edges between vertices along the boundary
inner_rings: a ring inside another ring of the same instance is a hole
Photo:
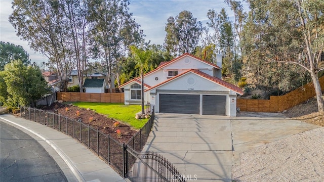
[[[160,154],[138,152],[144,147],[154,122],[154,106],[149,105],[147,111],[151,111],[150,119],[127,144],[118,142],[89,124],[68,118],[56,111],[21,107],[20,117],[70,135],[101,156],[121,176],[132,181],[185,181],[176,168]]]

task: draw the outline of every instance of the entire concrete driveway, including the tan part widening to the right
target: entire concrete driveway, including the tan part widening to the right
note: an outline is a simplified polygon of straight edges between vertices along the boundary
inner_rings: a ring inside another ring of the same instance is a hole
[[[164,155],[187,181],[231,181],[239,153],[317,127],[278,113],[157,113],[144,150]]]

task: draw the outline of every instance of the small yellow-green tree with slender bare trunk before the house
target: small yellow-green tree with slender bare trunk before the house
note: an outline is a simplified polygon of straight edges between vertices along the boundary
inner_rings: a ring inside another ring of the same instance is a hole
[[[148,62],[151,60],[151,52],[149,50],[143,50],[135,47],[134,45],[130,48],[132,58],[136,62],[136,67],[139,68],[141,74],[141,88],[142,88],[142,114],[144,114],[144,69],[147,69]]]

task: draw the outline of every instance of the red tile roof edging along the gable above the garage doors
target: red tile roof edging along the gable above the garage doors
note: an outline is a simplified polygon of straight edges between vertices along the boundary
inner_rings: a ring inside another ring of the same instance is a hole
[[[206,79],[209,79],[209,80],[211,80],[211,81],[213,81],[213,82],[215,82],[215,83],[217,83],[217,84],[220,84],[220,85],[222,85],[222,86],[224,86],[224,87],[226,87],[226,88],[228,88],[228,89],[233,90],[233,91],[236,92],[237,94],[240,94],[240,95],[243,95],[243,94],[244,94],[244,93],[243,93],[243,90],[242,90],[241,88],[239,88],[239,87],[237,87],[237,86],[235,86],[235,85],[233,85],[233,84],[231,84],[231,83],[228,83],[228,82],[226,82],[226,81],[224,81],[224,80],[222,80],[222,79],[220,79],[220,78],[217,78],[217,77],[211,76],[211,75],[209,75],[209,74],[206,74],[206,73],[204,73],[204,72],[202,72],[202,71],[199,71],[199,70],[196,70],[196,69],[190,69],[190,70],[187,70],[187,71],[185,71],[185,72],[183,72],[183,73],[181,73],[181,74],[179,74],[179,75],[177,75],[177,76],[174,76],[174,77],[172,77],[172,78],[170,78],[170,79],[168,79],[168,80],[166,80],[166,81],[164,81],[164,82],[161,82],[161,83],[159,83],[159,84],[156,84],[156,85],[154,85],[154,86],[152,86],[152,87],[146,89],[145,92],[147,92],[148,90],[153,89],[153,88],[155,88],[155,87],[158,87],[158,86],[160,86],[160,85],[163,85],[163,84],[165,84],[165,83],[167,83],[167,82],[169,82],[169,81],[172,81],[172,80],[174,80],[174,79],[176,79],[176,78],[179,78],[180,76],[182,76],[182,75],[184,75],[184,74],[186,74],[186,73],[188,73],[188,72],[192,72],[192,73],[195,73],[195,74],[197,74],[197,75],[199,75],[199,76],[201,76],[201,77],[204,77],[204,78],[206,78]]]

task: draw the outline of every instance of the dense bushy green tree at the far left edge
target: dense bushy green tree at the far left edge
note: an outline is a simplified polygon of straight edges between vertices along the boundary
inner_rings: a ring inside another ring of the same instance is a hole
[[[7,64],[0,75],[0,102],[6,106],[35,104],[50,93],[50,86],[37,66],[26,66],[15,60]]]

